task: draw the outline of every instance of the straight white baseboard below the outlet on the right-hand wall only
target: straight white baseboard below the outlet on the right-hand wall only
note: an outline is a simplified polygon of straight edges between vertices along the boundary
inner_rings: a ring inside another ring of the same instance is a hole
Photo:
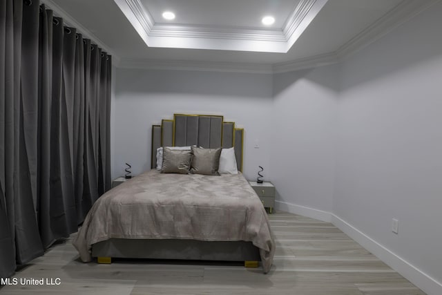
[[[374,256],[381,259],[385,264],[392,267],[396,272],[401,274],[411,283],[419,287],[423,292],[428,295],[439,295],[442,294],[442,284],[437,280],[422,272],[414,265],[407,262],[407,260],[401,258],[400,256],[394,254],[383,245],[376,242],[362,231],[356,229],[348,222],[342,218],[332,214],[332,223],[343,231],[347,236],[356,240],[361,246],[363,246],[368,251],[372,252]]]

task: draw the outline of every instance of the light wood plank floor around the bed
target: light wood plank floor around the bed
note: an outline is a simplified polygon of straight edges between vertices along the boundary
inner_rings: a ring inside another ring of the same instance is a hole
[[[15,275],[60,278],[61,285],[8,285],[0,294],[424,294],[331,223],[283,212],[269,217],[277,247],[269,274],[235,263],[85,264],[67,240]]]

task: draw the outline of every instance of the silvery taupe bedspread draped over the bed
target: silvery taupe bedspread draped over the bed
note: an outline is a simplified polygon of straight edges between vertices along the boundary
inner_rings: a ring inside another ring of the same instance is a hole
[[[275,252],[267,213],[241,173],[142,173],[93,204],[73,245],[88,262],[91,246],[110,238],[250,241],[265,273]]]

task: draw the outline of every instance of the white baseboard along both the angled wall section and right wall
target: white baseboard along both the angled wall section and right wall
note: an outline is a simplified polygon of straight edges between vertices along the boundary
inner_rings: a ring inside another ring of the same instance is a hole
[[[288,202],[275,202],[276,209],[281,211],[286,211],[289,213],[294,213],[302,216],[307,216],[309,218],[314,218],[317,220],[332,222],[338,229],[343,231],[347,236],[358,242],[368,251],[372,252],[374,256],[381,259],[385,264],[392,267],[398,274],[401,274],[411,283],[419,287],[423,292],[428,295],[440,295],[442,294],[442,284],[437,280],[422,272],[414,265],[407,262],[407,260],[401,258],[400,256],[394,254],[383,245],[376,242],[362,231],[356,229],[348,222],[336,216],[333,213],[314,209],[311,207],[305,207],[297,204],[291,204]]]

